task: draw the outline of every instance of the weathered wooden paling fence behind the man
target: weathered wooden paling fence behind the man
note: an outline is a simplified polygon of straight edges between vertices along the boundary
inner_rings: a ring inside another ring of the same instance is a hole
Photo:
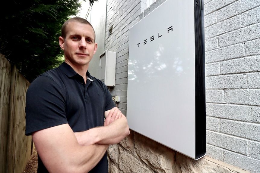
[[[23,173],[32,154],[25,136],[25,94],[30,82],[0,54],[0,173]]]

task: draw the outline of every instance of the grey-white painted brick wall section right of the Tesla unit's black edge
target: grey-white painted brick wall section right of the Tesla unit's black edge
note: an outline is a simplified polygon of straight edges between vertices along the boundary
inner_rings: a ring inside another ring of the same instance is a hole
[[[260,1],[205,0],[207,156],[260,170]]]

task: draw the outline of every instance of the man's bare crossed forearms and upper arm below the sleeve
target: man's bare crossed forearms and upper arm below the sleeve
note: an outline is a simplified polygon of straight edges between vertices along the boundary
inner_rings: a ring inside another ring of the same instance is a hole
[[[117,144],[130,131],[127,119],[116,107],[105,112],[104,126],[74,133],[68,124],[32,134],[37,152],[47,170],[88,172],[102,159],[109,144]]]

